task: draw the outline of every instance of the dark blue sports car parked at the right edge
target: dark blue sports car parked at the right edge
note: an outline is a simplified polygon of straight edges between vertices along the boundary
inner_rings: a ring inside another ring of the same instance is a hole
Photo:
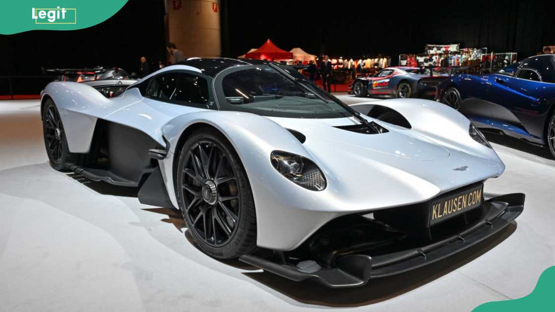
[[[518,62],[516,72],[460,74],[437,85],[436,100],[478,128],[549,148],[555,157],[555,56]]]

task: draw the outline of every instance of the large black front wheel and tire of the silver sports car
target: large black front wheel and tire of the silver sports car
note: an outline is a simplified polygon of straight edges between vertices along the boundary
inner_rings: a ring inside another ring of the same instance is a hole
[[[176,174],[179,209],[201,250],[219,259],[256,250],[253,193],[239,156],[221,133],[202,129],[191,134]]]

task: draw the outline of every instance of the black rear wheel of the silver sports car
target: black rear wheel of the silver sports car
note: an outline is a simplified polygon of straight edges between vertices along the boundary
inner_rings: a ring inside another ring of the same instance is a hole
[[[75,154],[69,152],[65,130],[56,104],[51,99],[44,103],[42,115],[44,147],[52,168],[58,171],[69,170],[69,164],[75,162]]]

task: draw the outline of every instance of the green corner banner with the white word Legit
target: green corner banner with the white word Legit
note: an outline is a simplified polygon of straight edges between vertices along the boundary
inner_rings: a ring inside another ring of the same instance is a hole
[[[2,4],[0,34],[87,28],[112,17],[125,3],[127,0],[8,0]]]

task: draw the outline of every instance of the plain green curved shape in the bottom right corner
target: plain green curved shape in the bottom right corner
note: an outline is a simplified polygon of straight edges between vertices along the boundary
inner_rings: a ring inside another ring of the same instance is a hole
[[[529,295],[506,301],[482,304],[472,312],[555,311],[555,266],[543,271]]]

